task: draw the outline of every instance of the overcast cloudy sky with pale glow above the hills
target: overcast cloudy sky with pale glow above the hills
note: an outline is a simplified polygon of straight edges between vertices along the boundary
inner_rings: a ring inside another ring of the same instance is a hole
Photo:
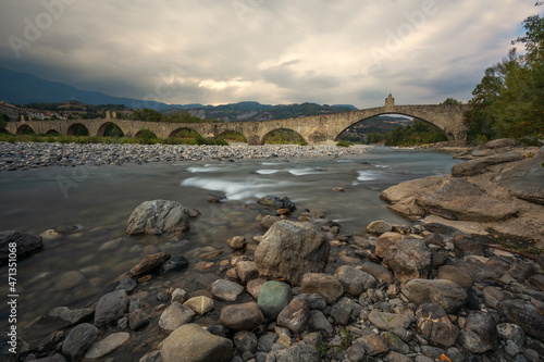
[[[535,0],[0,0],[0,66],[166,103],[467,101]]]

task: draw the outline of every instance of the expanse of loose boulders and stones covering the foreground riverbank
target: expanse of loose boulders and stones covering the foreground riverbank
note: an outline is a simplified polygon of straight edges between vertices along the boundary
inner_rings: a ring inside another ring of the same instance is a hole
[[[286,197],[264,197],[251,208],[260,211],[264,235],[185,255],[149,249],[95,303],[51,310],[21,329],[17,355],[0,355],[42,362],[541,361],[542,255],[539,264],[489,249],[440,223],[376,221],[367,237],[350,236]],[[149,201],[133,212],[126,232],[183,235],[191,216],[198,213],[178,202]]]

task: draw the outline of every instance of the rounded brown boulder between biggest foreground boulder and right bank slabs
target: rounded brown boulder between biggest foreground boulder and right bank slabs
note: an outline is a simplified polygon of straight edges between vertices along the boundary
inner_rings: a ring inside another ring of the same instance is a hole
[[[383,263],[393,271],[397,280],[404,283],[426,278],[432,255],[421,240],[400,240],[387,249]]]

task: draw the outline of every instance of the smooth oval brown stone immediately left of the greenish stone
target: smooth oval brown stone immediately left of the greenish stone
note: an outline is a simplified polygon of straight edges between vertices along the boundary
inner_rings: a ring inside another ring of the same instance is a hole
[[[220,323],[236,330],[252,330],[261,325],[263,315],[256,302],[226,305],[221,310]]]

